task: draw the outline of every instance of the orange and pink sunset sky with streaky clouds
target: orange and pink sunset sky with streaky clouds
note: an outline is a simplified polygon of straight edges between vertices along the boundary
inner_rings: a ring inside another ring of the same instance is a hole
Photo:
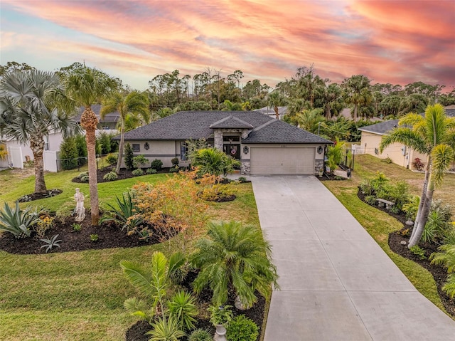
[[[138,90],[208,68],[274,87],[311,65],[455,87],[455,0],[0,0],[0,29],[1,65],[85,62]]]

